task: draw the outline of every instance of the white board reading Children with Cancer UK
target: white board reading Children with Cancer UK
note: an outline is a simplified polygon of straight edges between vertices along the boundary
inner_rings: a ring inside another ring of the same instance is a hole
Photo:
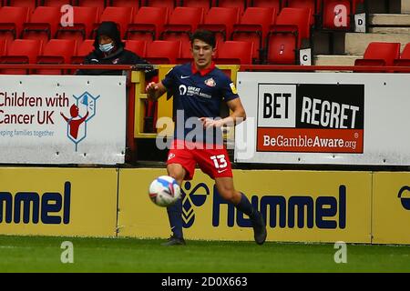
[[[0,76],[0,163],[124,163],[125,76]]]

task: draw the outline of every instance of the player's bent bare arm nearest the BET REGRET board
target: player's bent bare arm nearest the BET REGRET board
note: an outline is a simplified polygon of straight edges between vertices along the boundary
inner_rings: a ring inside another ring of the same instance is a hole
[[[246,119],[245,108],[241,103],[241,98],[235,98],[226,103],[231,109],[231,115],[223,119],[209,119],[207,117],[201,117],[200,121],[204,127],[221,127],[224,125],[234,126],[239,125],[242,121]]]

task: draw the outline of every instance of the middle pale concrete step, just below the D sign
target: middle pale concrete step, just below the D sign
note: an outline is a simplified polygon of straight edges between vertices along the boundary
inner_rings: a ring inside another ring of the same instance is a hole
[[[364,51],[371,42],[401,43],[402,50],[410,43],[410,34],[360,34],[348,33],[344,39],[346,55],[364,55]]]

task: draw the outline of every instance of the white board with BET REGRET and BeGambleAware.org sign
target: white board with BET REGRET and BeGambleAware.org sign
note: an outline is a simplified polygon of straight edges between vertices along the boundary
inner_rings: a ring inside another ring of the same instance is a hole
[[[239,73],[241,163],[410,165],[405,74]]]

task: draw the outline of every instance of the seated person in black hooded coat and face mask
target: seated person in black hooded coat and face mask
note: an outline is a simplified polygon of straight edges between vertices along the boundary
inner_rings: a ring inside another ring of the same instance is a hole
[[[125,49],[121,41],[118,25],[112,21],[102,22],[97,28],[95,49],[86,56],[83,65],[147,65],[146,78],[157,74],[149,63]],[[122,75],[120,70],[77,70],[76,75]]]

